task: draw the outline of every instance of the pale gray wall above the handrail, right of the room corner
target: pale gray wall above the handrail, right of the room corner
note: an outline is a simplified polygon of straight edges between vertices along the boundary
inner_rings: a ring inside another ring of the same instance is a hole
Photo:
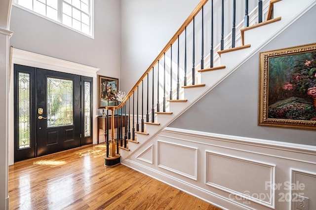
[[[122,90],[130,91],[198,2],[121,0]]]

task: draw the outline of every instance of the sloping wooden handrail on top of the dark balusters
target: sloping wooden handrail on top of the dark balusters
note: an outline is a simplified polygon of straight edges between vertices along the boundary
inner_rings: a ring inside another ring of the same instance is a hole
[[[123,99],[123,101],[121,101],[121,103],[117,106],[107,106],[106,109],[118,109],[120,107],[122,107],[123,105],[125,105],[125,103],[127,102],[128,98],[130,96],[133,95],[133,92],[137,89],[137,87],[141,84],[142,80],[145,79],[145,77],[147,76],[147,73],[151,72],[153,67],[155,67],[155,65],[157,64],[158,60],[161,59],[161,57],[163,56],[163,54],[165,52],[167,52],[170,48],[170,45],[173,44],[177,39],[178,39],[178,35],[181,35],[182,32],[184,32],[185,28],[187,26],[189,26],[189,24],[191,23],[191,21],[193,20],[193,17],[195,17],[197,15],[197,13],[202,9],[202,6],[205,5],[207,3],[208,0],[201,0],[196,8],[192,11],[192,13],[189,15],[189,17],[184,21],[184,23],[181,25],[181,27],[178,29],[178,31],[172,36],[172,38],[170,39],[170,41],[165,45],[165,47],[162,49],[162,51],[158,54],[158,56],[156,57],[156,59],[153,61],[153,63],[148,67],[148,69],[143,73],[143,75],[139,78],[139,80],[136,82],[136,84],[134,85],[134,87],[129,91],[129,93],[125,96],[125,98]]]

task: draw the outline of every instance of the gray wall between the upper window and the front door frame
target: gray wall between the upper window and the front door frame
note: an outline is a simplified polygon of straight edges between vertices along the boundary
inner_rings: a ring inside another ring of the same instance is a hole
[[[100,68],[119,78],[120,1],[94,0],[94,39],[12,6],[14,48]]]

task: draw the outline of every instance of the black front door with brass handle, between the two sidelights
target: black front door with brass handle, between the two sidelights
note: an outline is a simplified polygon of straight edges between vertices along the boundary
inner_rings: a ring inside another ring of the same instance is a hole
[[[37,155],[80,146],[80,76],[37,69]]]

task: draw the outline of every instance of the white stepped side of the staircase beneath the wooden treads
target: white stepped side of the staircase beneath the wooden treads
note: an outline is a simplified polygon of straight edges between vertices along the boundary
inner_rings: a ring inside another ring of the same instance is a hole
[[[188,102],[177,104],[177,108],[174,110],[172,110],[173,103],[170,103],[170,111],[173,112],[172,115],[159,115],[157,117],[158,122],[160,123],[159,126],[146,125],[149,135],[137,135],[137,139],[141,140],[142,143],[137,144],[138,148],[136,150],[121,150],[121,163],[125,165],[126,159],[132,157],[135,152],[142,149],[143,145],[153,140],[161,131],[163,131],[165,127],[171,124],[190,107],[195,105],[201,98],[203,98],[223,80],[225,80],[225,78],[227,78],[242,64],[248,61],[251,58],[251,55],[258,53],[277,35],[281,34],[285,29],[287,29],[292,23],[294,23],[316,4],[316,0],[303,1],[298,2],[296,0],[281,0],[277,2],[275,4],[274,12],[276,17],[280,16],[279,14],[281,14],[281,20],[272,24],[245,31],[245,44],[250,43],[251,47],[222,54],[221,65],[225,65],[226,69],[202,72],[201,82],[205,83],[205,87],[185,89],[184,97],[185,99],[188,99]],[[284,10],[284,7],[289,5],[291,6],[291,9],[287,9],[285,12],[282,12]],[[289,11],[297,12],[294,13]],[[251,36],[249,36],[248,34],[251,34]],[[253,37],[256,37],[256,39],[254,39]]]

